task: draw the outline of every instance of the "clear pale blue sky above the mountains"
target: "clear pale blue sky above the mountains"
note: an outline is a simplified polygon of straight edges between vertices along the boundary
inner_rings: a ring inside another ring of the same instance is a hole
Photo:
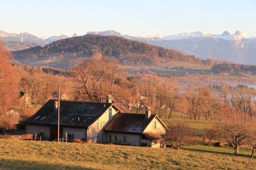
[[[255,0],[8,0],[0,7],[1,31],[45,38],[106,30],[131,36],[241,30],[256,36]]]

